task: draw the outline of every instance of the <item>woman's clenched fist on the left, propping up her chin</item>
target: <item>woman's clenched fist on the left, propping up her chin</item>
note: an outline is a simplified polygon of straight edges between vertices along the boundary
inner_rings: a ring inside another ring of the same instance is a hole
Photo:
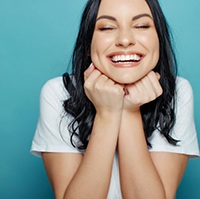
[[[102,74],[93,64],[84,73],[84,89],[96,111],[122,111],[124,89],[106,75]]]

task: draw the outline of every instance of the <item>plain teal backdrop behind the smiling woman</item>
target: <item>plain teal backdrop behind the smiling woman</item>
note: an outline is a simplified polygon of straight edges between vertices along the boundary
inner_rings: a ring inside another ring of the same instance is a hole
[[[0,0],[0,198],[51,199],[42,160],[29,152],[39,92],[65,72],[86,0]],[[179,73],[194,90],[200,137],[200,1],[162,0]],[[178,199],[200,198],[200,159],[190,160]]]

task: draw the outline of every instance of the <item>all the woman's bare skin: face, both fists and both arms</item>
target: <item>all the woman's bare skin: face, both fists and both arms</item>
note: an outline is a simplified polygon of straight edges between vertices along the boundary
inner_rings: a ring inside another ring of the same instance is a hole
[[[93,64],[84,73],[85,93],[96,108],[88,147],[84,155],[42,155],[56,199],[106,198],[117,145],[124,199],[175,197],[188,157],[150,153],[142,126],[140,106],[162,94],[160,76],[152,71],[159,58],[153,21],[151,17],[132,20],[142,13],[151,16],[143,0],[101,1],[97,18],[108,15],[115,20],[97,21],[91,45]],[[149,28],[136,28],[147,22]],[[102,24],[115,28],[100,31]],[[116,64],[109,58],[136,51],[144,55],[137,63]]]

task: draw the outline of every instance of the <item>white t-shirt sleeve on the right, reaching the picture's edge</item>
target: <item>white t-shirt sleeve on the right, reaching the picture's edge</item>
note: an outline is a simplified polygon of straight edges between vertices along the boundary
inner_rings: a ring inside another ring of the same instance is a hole
[[[190,83],[181,77],[176,85],[176,122],[171,131],[174,139],[180,140],[173,146],[157,130],[149,139],[152,144],[151,152],[163,151],[186,154],[191,157],[199,156],[197,132],[194,123],[193,91]]]

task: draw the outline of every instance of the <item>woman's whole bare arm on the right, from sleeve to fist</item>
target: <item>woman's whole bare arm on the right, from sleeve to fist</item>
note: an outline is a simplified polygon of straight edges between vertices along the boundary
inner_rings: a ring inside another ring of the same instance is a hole
[[[146,78],[127,88],[130,96],[122,114],[118,141],[122,194],[124,199],[174,199],[188,158],[172,153],[149,153],[138,107],[159,96],[161,88],[155,74]],[[131,95],[138,96],[132,109]]]

